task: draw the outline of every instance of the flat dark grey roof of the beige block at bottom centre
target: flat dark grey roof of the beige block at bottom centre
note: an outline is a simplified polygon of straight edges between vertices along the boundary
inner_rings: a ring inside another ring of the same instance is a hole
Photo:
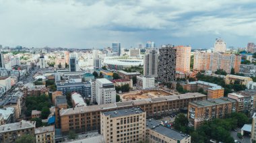
[[[134,115],[134,114],[143,113],[143,112],[145,111],[143,111],[143,109],[141,109],[140,107],[131,107],[128,109],[116,109],[113,111],[105,111],[105,112],[102,112],[102,114],[106,116],[110,115],[110,118],[112,118],[112,117]]]

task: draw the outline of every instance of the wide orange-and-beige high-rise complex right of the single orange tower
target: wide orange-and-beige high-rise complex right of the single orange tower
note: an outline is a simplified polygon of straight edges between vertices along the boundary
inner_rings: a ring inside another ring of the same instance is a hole
[[[234,72],[240,70],[241,56],[235,54],[221,54],[220,52],[201,53],[196,52],[194,56],[193,69],[196,71],[223,69],[226,73],[230,73],[234,68]]]

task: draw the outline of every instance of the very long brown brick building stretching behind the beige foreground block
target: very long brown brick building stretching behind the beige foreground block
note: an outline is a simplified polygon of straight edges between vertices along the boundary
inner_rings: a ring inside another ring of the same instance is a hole
[[[59,121],[61,121],[61,132],[64,134],[69,132],[69,130],[86,132],[100,130],[100,112],[126,109],[129,107],[141,107],[141,109],[146,111],[147,117],[160,117],[161,115],[170,115],[170,113],[187,109],[190,101],[205,99],[206,95],[200,93],[137,99],[133,101],[91,105],[88,107],[61,109],[60,117],[56,118],[59,118]]]

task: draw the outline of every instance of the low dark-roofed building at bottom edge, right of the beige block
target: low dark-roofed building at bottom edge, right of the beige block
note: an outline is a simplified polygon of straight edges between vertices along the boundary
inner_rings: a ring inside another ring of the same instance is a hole
[[[190,143],[191,136],[162,126],[160,122],[154,119],[147,120],[146,140],[157,143]]]

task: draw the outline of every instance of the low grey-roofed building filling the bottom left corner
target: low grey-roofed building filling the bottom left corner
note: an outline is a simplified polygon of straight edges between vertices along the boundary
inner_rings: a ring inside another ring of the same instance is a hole
[[[15,142],[23,135],[30,134],[34,136],[36,122],[24,121],[0,126],[0,142]]]

